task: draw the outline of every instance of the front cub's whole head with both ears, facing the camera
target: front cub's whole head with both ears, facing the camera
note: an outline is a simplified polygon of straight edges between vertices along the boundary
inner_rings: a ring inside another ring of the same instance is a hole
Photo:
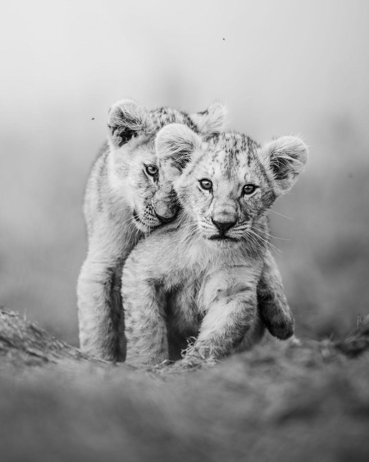
[[[158,133],[156,150],[199,234],[223,243],[255,233],[266,210],[292,188],[308,158],[304,142],[293,136],[260,146],[236,132],[204,140],[178,124]]]

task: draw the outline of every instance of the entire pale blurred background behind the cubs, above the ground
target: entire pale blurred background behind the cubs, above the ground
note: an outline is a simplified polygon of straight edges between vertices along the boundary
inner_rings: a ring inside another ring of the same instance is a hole
[[[344,334],[369,313],[368,15],[364,0],[7,2],[0,304],[77,345],[83,190],[109,106],[218,99],[227,128],[309,145],[271,213],[275,257],[297,334]]]

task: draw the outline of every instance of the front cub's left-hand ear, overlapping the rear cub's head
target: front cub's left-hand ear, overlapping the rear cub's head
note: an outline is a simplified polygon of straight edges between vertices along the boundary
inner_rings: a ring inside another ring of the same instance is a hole
[[[178,172],[184,169],[193,153],[201,146],[201,137],[180,123],[166,125],[159,131],[155,140],[159,158],[169,161]]]

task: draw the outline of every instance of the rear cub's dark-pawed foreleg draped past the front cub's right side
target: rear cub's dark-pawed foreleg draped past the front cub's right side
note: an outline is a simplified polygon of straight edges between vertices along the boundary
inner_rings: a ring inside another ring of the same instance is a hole
[[[257,286],[257,302],[262,320],[274,337],[286,340],[293,335],[295,321],[288,306],[280,271],[270,251],[265,256]]]

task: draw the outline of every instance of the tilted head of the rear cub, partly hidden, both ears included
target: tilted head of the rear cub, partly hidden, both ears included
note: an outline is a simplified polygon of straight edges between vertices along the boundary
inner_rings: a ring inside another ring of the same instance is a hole
[[[214,103],[206,111],[187,115],[176,109],[147,111],[129,99],[113,104],[108,117],[109,178],[117,197],[127,203],[142,231],[172,220],[178,212],[173,186],[161,171],[155,151],[156,133],[169,123],[191,133],[220,133],[225,108]]]

